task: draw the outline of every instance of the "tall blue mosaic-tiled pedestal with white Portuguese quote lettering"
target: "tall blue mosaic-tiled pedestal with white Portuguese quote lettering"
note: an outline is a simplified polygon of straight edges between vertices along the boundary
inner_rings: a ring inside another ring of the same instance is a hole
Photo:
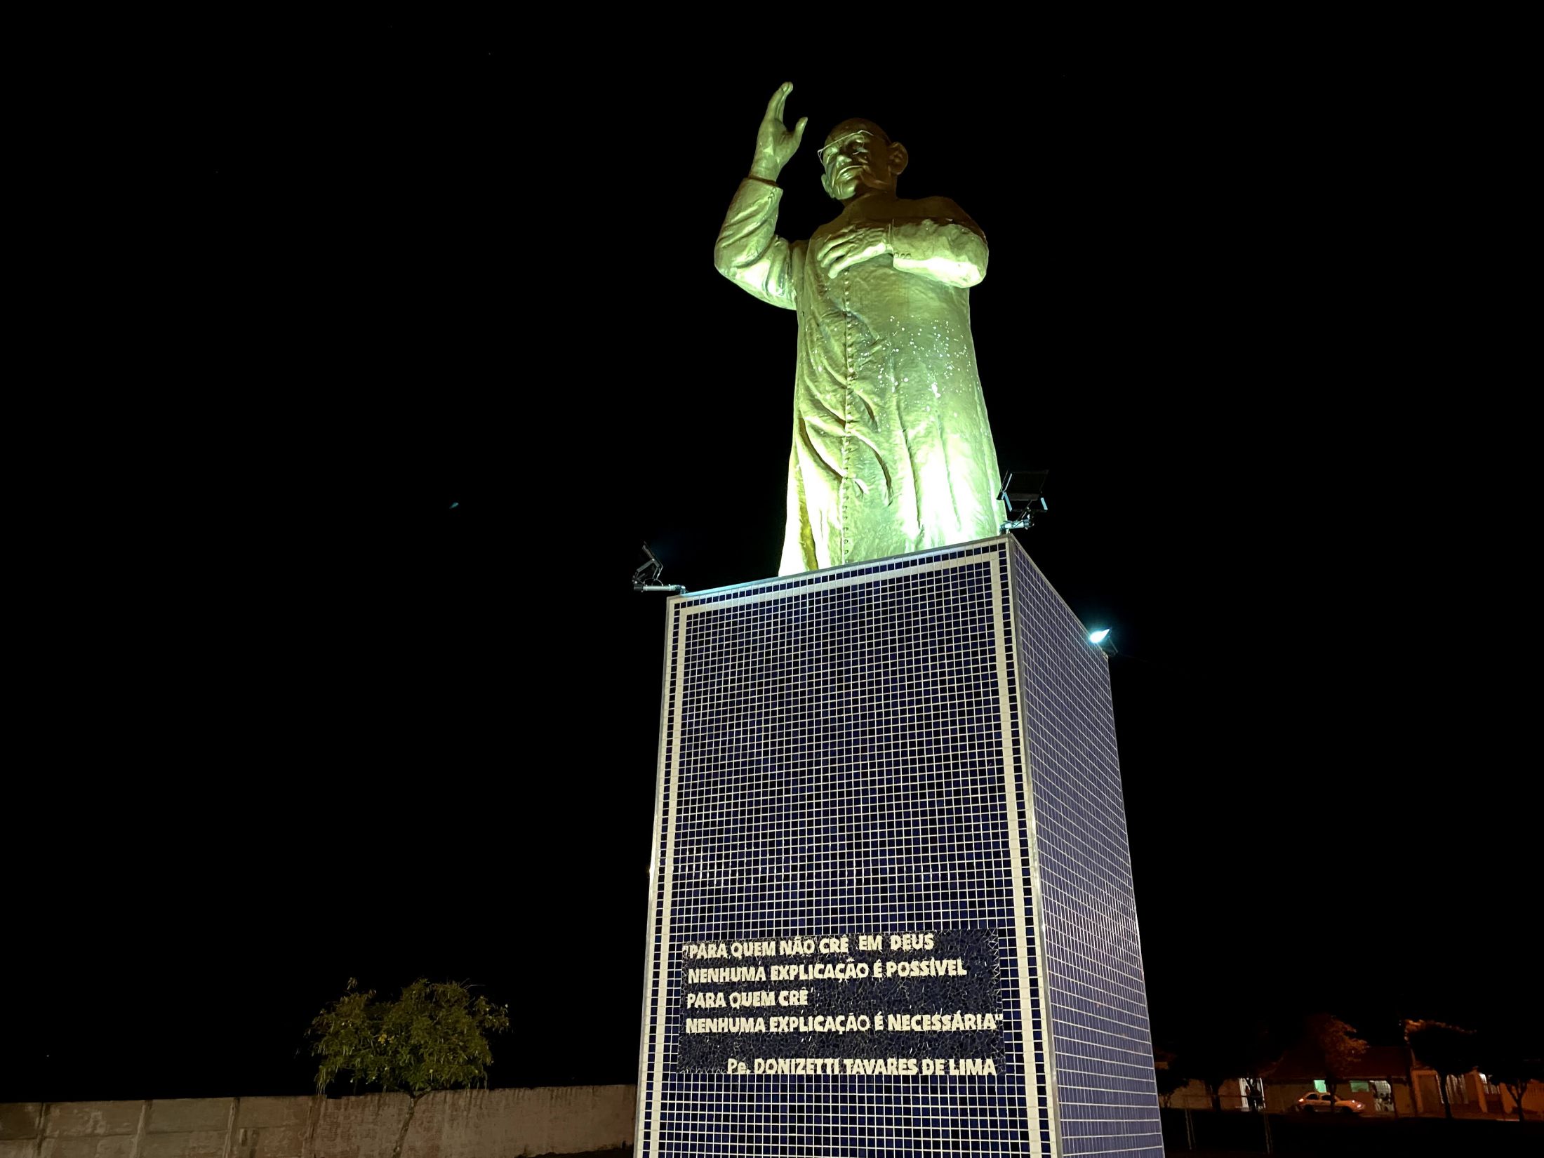
[[[1161,1158],[1109,661],[1024,548],[667,619],[639,1158]]]

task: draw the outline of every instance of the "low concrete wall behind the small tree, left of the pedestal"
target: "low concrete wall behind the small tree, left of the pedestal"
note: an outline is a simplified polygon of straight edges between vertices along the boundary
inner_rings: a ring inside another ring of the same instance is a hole
[[[633,1143],[633,1085],[454,1090],[418,1101],[405,1158],[523,1158]],[[0,1158],[389,1158],[403,1093],[0,1104]]]

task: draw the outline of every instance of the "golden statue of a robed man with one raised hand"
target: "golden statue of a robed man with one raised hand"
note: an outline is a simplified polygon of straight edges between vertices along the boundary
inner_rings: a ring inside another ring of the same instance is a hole
[[[970,287],[987,238],[953,201],[902,201],[906,148],[869,120],[826,137],[820,184],[843,208],[809,241],[777,236],[792,131],[767,102],[713,264],[798,312],[787,531],[778,574],[987,539],[1004,519],[976,374]]]

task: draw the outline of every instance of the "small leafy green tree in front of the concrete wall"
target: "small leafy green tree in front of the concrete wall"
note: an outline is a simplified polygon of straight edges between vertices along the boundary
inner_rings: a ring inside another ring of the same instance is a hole
[[[374,990],[361,991],[349,977],[343,996],[310,1024],[310,1051],[321,1058],[317,1093],[340,1078],[355,1090],[363,1084],[406,1093],[408,1113],[392,1149],[392,1158],[401,1158],[418,1099],[435,1090],[486,1087],[488,1034],[508,1028],[508,1005],[472,997],[460,982],[420,977],[397,1001],[377,1001]]]

